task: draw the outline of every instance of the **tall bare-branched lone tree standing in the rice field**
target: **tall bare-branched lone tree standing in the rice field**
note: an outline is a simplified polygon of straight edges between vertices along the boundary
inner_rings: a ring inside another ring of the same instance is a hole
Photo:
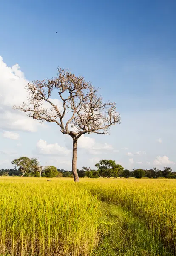
[[[27,116],[40,122],[56,123],[63,134],[72,137],[72,172],[74,181],[79,181],[77,140],[86,133],[109,134],[110,126],[120,123],[120,116],[116,113],[116,104],[103,103],[97,89],[84,77],[75,76],[69,70],[57,70],[55,78],[26,84],[27,102],[14,106],[14,109],[26,112]],[[57,93],[60,100],[52,99],[51,93]]]

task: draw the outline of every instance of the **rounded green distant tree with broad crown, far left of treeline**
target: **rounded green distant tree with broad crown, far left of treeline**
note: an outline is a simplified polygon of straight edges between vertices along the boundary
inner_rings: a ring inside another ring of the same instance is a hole
[[[22,173],[21,177],[30,171],[31,159],[28,157],[14,159],[11,163],[14,165],[14,168],[19,167],[19,171]]]

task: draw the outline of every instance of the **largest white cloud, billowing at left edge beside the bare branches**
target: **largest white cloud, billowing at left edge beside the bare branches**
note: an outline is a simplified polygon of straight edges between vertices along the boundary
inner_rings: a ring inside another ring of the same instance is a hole
[[[26,117],[25,113],[12,109],[13,105],[20,105],[26,100],[26,83],[19,65],[8,67],[0,56],[0,128],[17,131],[37,130],[37,122]]]

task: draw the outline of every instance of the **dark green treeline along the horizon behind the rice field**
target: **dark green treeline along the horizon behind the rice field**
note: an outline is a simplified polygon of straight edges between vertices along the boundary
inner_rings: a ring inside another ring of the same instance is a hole
[[[37,158],[20,157],[12,161],[14,168],[1,169],[0,176],[26,176],[26,177],[73,177],[71,171],[57,169],[55,166],[41,166]],[[120,164],[116,164],[113,160],[101,160],[95,164],[96,169],[90,167],[82,167],[77,169],[79,177],[88,178],[176,178],[176,172],[170,167],[160,169],[133,169],[132,171],[124,169]]]

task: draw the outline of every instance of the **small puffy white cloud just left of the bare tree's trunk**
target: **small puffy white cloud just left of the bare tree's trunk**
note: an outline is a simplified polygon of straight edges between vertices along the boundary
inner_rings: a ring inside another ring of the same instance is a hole
[[[47,144],[45,140],[39,140],[36,145],[37,152],[45,155],[68,155],[70,150],[61,147],[57,143]]]

